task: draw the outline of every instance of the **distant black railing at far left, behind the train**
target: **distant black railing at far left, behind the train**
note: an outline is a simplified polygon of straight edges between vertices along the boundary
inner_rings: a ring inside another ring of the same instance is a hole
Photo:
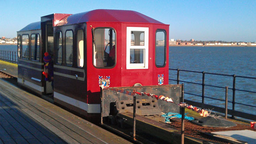
[[[0,50],[0,60],[16,64],[18,62],[17,52]]]

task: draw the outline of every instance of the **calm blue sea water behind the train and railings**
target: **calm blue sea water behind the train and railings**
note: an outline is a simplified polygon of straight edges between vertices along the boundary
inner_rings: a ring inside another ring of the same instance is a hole
[[[0,45],[0,50],[17,51],[16,45]],[[209,73],[236,74],[239,76],[256,77],[256,47],[169,47],[169,67],[173,69],[205,71]],[[177,71],[169,71],[170,79],[177,79]],[[180,80],[202,83],[202,74],[180,72]],[[170,84],[176,81],[169,80]],[[233,88],[233,78],[205,75],[205,84],[228,86]],[[236,89],[256,91],[256,80],[236,78]],[[202,86],[185,83],[185,92],[202,95]],[[232,109],[232,94],[229,90],[229,109]],[[225,99],[225,89],[205,86],[205,96]],[[185,94],[185,99],[201,102],[201,97]],[[256,94],[236,91],[236,102],[256,106]],[[223,101],[205,98],[205,103],[224,107]],[[256,108],[236,104],[236,110],[248,112]]]

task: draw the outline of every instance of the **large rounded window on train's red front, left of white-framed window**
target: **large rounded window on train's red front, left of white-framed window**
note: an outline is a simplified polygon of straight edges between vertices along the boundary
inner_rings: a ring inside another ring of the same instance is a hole
[[[113,67],[116,61],[115,30],[98,28],[94,30],[93,64],[95,67]]]

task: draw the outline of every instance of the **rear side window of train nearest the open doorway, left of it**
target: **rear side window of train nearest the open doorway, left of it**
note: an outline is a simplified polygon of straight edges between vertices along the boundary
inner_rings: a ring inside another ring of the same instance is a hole
[[[40,59],[40,36],[39,34],[31,35],[31,60],[39,61]]]

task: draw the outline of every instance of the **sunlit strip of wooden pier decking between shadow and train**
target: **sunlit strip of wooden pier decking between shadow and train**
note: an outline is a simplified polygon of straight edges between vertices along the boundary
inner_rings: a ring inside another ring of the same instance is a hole
[[[4,93],[4,96],[13,101],[16,107],[19,107],[26,115],[30,115],[31,118],[36,119],[68,143],[130,143],[16,86],[10,86],[2,80],[0,80],[0,92]]]

